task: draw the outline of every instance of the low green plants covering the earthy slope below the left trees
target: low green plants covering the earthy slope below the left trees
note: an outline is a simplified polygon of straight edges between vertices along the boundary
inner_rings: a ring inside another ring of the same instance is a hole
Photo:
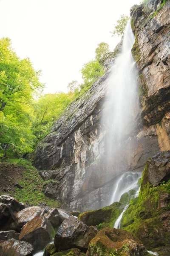
[[[8,191],[9,195],[24,204],[37,206],[41,202],[49,207],[59,207],[59,201],[45,197],[43,192],[44,186],[47,185],[47,183],[42,180],[37,169],[35,169],[29,161],[25,159],[10,159],[8,162],[26,168],[22,180],[18,181],[23,188],[19,189],[16,187],[14,191]],[[3,194],[4,193],[5,192],[3,192]]]

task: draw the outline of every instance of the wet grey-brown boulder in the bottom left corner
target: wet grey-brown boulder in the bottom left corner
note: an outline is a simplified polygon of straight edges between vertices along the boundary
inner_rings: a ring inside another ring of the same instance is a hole
[[[24,241],[0,241],[0,256],[32,256],[34,247]]]

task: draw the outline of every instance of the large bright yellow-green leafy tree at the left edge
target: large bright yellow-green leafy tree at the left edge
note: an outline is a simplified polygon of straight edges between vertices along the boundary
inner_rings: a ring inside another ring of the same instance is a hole
[[[4,157],[8,148],[19,155],[32,150],[32,100],[44,87],[40,75],[29,58],[17,57],[9,38],[0,39],[0,144]]]

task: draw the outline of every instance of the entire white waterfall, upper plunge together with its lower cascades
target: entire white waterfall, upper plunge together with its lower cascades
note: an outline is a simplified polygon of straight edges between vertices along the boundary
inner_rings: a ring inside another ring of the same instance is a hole
[[[135,36],[133,35],[129,21],[124,33],[122,53],[116,58],[112,75],[108,81],[109,96],[107,97],[104,119],[102,119],[102,122],[106,122],[108,125],[109,136],[106,143],[107,151],[109,152],[108,161],[112,159],[113,162],[115,152],[121,146],[122,138],[129,134],[134,126],[134,118],[138,111],[136,90],[137,70],[131,54],[134,41]],[[141,176],[141,173],[130,171],[120,175],[114,184],[114,191],[110,203],[119,201],[124,193],[132,190],[134,193],[130,195],[130,199],[136,198],[139,195],[140,186],[138,185],[138,180]],[[120,228],[122,216],[127,208],[128,204],[116,220],[114,224],[115,228]],[[148,251],[148,253],[158,255],[151,251]],[[43,251],[35,253],[34,256],[43,256]]]

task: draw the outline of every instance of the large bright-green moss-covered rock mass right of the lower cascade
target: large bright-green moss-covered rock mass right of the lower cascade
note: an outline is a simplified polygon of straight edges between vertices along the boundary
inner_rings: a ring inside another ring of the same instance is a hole
[[[168,246],[170,233],[166,223],[170,218],[170,180],[153,186],[147,181],[148,166],[143,175],[139,197],[130,201],[121,227],[137,236],[147,248]],[[165,224],[164,224],[165,223]]]

